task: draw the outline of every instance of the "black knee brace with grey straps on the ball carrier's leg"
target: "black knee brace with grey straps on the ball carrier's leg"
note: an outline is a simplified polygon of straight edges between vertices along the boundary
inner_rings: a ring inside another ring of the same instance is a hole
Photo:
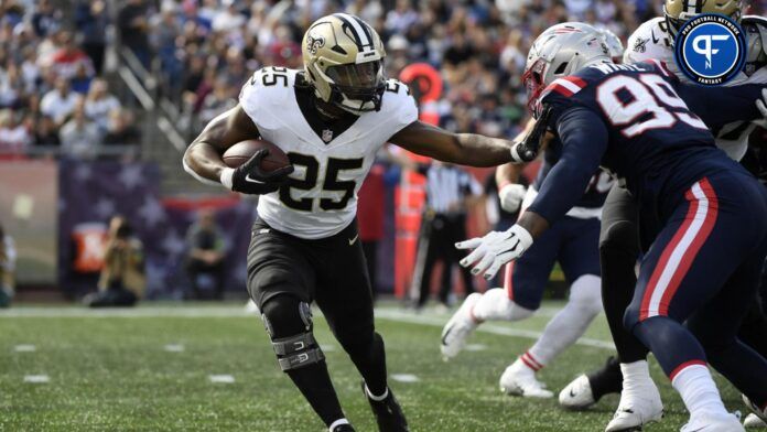
[[[263,305],[261,318],[283,371],[325,359],[312,333],[309,303],[290,295],[278,295]]]

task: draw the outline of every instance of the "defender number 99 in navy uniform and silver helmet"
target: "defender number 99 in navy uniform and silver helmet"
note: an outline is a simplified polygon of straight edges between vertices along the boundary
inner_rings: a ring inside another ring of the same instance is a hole
[[[715,147],[706,122],[758,118],[755,101],[767,85],[705,88],[681,84],[658,61],[617,65],[582,25],[543,32],[523,75],[529,108],[550,110],[562,156],[517,225],[457,245],[474,249],[462,264],[494,276],[559,223],[597,166],[609,169],[638,197],[640,244],[651,245],[625,328],[681,395],[690,412],[683,432],[743,431],[706,364],[765,409],[767,359],[737,331],[767,255],[767,191]]]

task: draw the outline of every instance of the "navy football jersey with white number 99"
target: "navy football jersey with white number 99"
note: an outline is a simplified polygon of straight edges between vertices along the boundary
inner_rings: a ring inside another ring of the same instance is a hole
[[[549,126],[563,142],[562,154],[530,210],[558,219],[599,165],[624,180],[642,206],[660,213],[702,176],[744,171],[714,145],[706,122],[757,118],[754,101],[761,88],[681,84],[656,61],[601,64],[555,79],[539,100],[552,108]]]

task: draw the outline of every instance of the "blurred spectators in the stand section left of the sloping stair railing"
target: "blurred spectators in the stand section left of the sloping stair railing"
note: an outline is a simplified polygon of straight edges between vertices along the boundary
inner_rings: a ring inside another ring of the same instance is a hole
[[[138,144],[133,114],[110,91],[104,64],[106,2],[0,6],[0,156],[89,159]],[[65,13],[66,12],[66,13]]]

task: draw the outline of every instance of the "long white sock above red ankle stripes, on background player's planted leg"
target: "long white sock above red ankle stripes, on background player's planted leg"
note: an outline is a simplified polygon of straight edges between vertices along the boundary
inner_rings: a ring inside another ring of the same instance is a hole
[[[570,287],[568,304],[554,315],[528,353],[548,365],[579,337],[602,312],[601,279],[593,274],[577,278]]]

